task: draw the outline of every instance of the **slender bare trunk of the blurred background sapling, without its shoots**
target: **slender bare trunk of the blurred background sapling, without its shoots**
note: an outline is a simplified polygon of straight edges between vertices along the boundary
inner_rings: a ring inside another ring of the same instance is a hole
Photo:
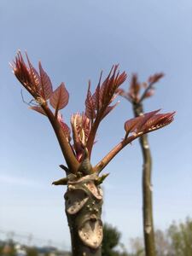
[[[142,104],[133,108],[135,116],[143,114]],[[152,160],[148,145],[148,136],[145,134],[139,138],[143,152],[143,234],[146,256],[155,256],[153,199],[152,199]]]

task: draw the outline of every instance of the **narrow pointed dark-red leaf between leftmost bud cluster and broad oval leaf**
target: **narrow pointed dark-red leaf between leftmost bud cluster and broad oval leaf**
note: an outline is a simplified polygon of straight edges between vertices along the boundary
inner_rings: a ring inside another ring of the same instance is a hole
[[[46,72],[44,72],[44,69],[41,66],[40,61],[38,63],[38,67],[39,67],[41,86],[42,86],[42,92],[43,92],[42,96],[44,97],[44,100],[46,101],[49,99],[50,95],[53,92],[52,84],[51,84],[48,74]]]

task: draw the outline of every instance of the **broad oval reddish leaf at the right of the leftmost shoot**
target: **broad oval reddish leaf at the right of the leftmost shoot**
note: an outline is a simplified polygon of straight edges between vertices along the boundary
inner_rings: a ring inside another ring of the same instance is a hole
[[[61,83],[59,87],[51,94],[49,98],[50,105],[55,110],[65,108],[68,103],[69,94],[64,83]]]

